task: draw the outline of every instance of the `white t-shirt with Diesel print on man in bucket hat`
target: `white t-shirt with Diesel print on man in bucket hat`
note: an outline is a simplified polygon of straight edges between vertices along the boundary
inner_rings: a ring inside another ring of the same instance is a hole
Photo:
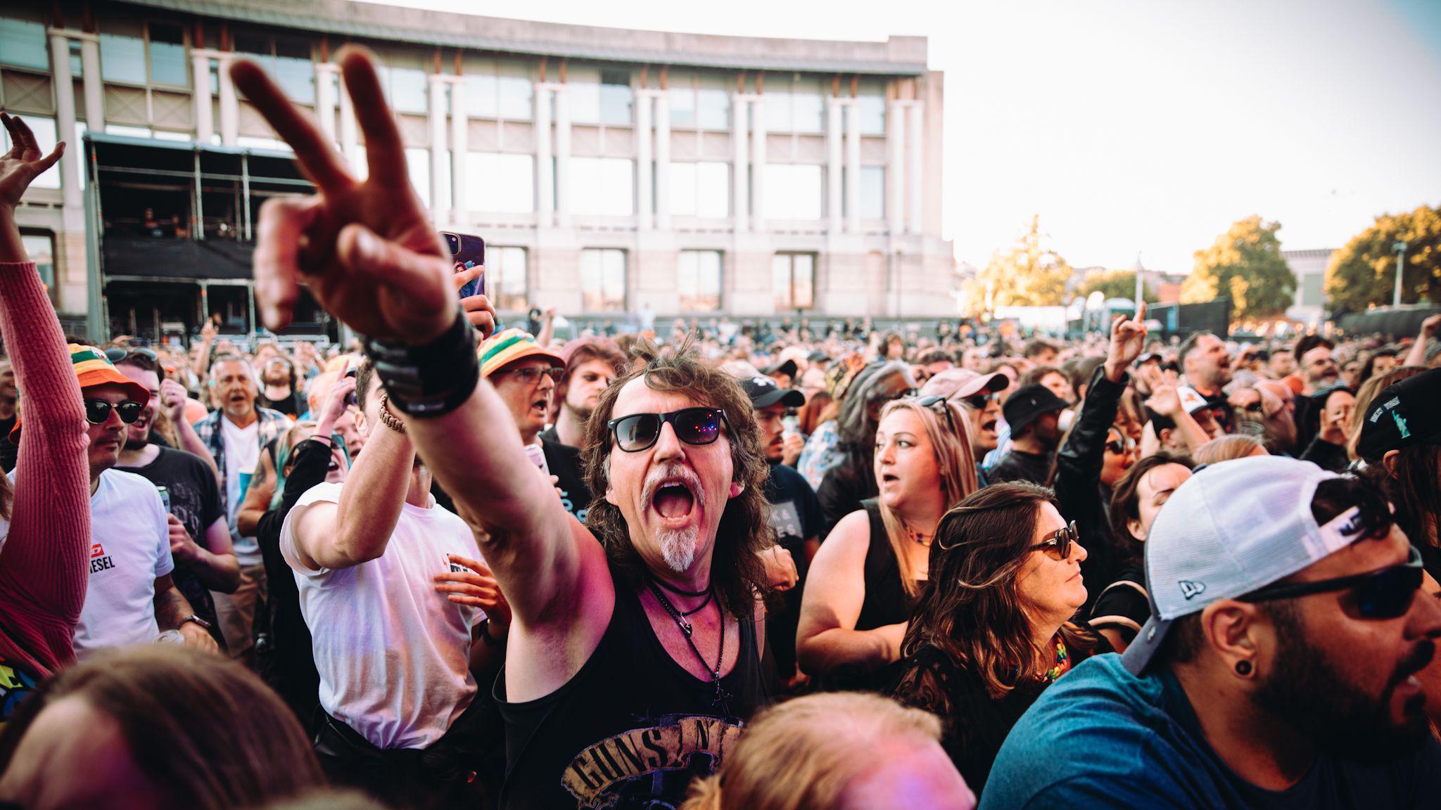
[[[89,585],[75,626],[75,657],[154,641],[160,636],[156,578],[173,569],[170,528],[156,484],[134,473],[101,473],[91,496]]]

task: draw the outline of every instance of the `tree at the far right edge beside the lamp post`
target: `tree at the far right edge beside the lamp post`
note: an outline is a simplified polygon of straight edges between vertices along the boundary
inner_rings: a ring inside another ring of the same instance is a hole
[[[1389,304],[1396,285],[1393,245],[1406,242],[1401,303],[1441,301],[1441,208],[1385,213],[1331,254],[1326,295],[1331,308],[1365,310]]]

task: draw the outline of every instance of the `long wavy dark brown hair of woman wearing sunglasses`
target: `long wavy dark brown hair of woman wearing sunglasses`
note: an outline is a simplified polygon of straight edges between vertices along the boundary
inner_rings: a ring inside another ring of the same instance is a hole
[[[1032,640],[1016,587],[1030,553],[1040,506],[1056,496],[1030,483],[981,487],[945,513],[931,543],[929,575],[901,644],[902,657],[929,644],[986,682],[994,699],[1050,666]],[[1066,623],[1071,650],[1092,650],[1097,638]],[[1043,663],[1045,662],[1045,663]]]

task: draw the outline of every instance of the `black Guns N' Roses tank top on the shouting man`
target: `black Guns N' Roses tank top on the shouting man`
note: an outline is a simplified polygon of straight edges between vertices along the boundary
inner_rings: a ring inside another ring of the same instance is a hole
[[[720,679],[729,699],[716,706],[715,686],[666,653],[640,597],[615,581],[605,636],[565,686],[510,703],[504,673],[496,679],[506,721],[501,807],[679,807],[690,781],[715,773],[769,702],[754,618],[741,620],[741,653]]]

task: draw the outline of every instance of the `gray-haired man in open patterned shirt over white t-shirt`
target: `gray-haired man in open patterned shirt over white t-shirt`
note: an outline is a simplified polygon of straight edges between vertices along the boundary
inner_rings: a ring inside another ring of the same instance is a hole
[[[220,473],[220,502],[231,526],[231,543],[241,564],[241,585],[235,592],[210,591],[220,620],[226,649],[233,659],[249,662],[255,647],[252,628],[256,600],[265,595],[265,565],[255,538],[241,536],[235,515],[245,502],[245,487],[255,473],[261,448],[290,427],[290,419],[255,404],[255,368],[241,355],[220,355],[210,363],[210,399],[215,411],[195,424],[195,432],[210,450]]]

